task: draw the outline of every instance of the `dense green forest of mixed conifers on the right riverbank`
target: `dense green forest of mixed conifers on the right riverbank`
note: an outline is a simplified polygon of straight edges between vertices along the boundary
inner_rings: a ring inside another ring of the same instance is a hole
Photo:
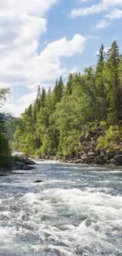
[[[48,91],[38,87],[34,104],[17,121],[14,150],[37,157],[74,158],[85,151],[93,134],[94,150],[120,149],[122,55],[116,41],[107,53],[101,46],[95,67],[69,73],[66,83],[60,77],[52,87]]]

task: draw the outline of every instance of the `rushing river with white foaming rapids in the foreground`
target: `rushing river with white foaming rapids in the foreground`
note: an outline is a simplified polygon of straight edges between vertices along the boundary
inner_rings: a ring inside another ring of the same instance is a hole
[[[0,255],[121,256],[122,171],[43,162],[0,177]]]

